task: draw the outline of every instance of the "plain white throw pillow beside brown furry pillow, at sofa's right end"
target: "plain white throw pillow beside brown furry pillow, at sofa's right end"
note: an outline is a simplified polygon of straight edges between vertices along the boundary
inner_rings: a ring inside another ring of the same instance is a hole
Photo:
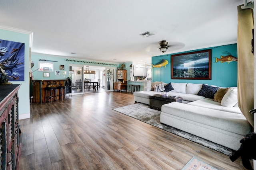
[[[221,106],[234,107],[237,102],[237,88],[232,88],[223,96],[221,100]]]

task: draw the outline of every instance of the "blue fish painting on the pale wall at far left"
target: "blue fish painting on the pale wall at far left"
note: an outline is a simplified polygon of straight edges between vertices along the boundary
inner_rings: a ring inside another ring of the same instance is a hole
[[[0,39],[0,75],[24,81],[25,44]]]

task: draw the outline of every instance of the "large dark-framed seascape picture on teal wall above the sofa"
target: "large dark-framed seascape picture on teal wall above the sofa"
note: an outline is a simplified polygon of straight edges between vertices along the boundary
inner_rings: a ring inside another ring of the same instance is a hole
[[[171,56],[172,79],[212,79],[212,50]]]

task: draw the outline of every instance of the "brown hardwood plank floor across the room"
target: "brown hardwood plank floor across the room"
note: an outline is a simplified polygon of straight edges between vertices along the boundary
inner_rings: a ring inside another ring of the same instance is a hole
[[[30,106],[22,131],[20,170],[180,170],[196,156],[218,169],[243,170],[241,159],[112,110],[132,94],[102,92]]]

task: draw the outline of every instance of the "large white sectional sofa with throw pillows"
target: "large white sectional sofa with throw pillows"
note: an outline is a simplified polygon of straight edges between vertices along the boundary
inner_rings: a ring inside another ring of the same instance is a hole
[[[157,83],[161,84],[162,82]],[[238,150],[240,148],[240,140],[252,129],[237,106],[236,87],[222,88],[222,90],[228,90],[223,94],[223,98],[211,99],[207,98],[208,94],[204,92],[203,88],[209,88],[205,84],[171,83],[171,85],[174,90],[168,92],[169,96],[180,96],[183,101],[182,103],[172,102],[162,105],[161,123],[230,149]],[[134,92],[134,101],[150,104],[149,96],[161,93]],[[206,97],[199,96],[198,93],[200,95],[206,93]],[[219,102],[214,100],[219,100]]]

